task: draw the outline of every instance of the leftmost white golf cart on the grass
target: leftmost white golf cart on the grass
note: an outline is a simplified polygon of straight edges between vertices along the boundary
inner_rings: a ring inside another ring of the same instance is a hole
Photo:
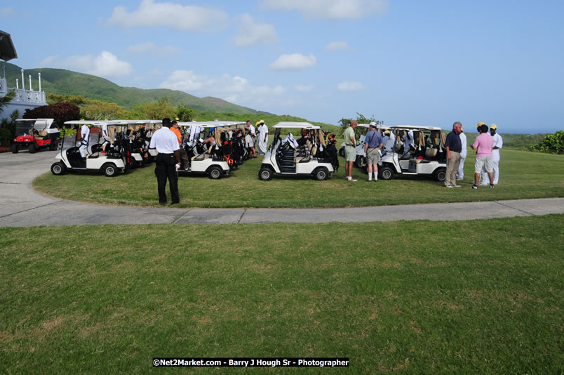
[[[86,150],[86,158],[81,156],[79,147],[76,146],[77,143],[80,144],[80,125],[86,124],[90,126],[90,140],[88,141],[88,147]],[[63,175],[67,171],[100,171],[108,177],[117,176],[118,173],[126,170],[126,163],[123,159],[123,152],[109,145],[109,147],[103,147],[100,143],[100,135],[102,126],[107,126],[108,133],[110,135],[110,141],[113,142],[117,124],[113,121],[66,121],[65,125],[71,126],[75,125],[78,130],[76,131],[76,137],[74,140],[74,145],[65,149],[65,138],[63,130],[63,141],[61,145],[61,152],[55,156],[57,162],[51,165],[51,173],[56,176]],[[94,141],[95,134],[98,134],[98,140]],[[106,150],[104,151],[103,148]]]

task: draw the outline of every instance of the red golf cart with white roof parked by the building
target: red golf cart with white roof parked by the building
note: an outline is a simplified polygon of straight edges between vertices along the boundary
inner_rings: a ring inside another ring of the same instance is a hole
[[[11,151],[17,154],[20,150],[29,150],[33,154],[37,150],[48,148],[57,150],[60,132],[53,119],[17,119],[15,138]]]

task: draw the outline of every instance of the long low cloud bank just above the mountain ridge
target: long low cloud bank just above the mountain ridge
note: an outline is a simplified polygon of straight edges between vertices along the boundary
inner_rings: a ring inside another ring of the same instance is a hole
[[[175,70],[166,79],[160,88],[171,90],[190,91],[199,96],[214,96],[239,105],[259,106],[269,103],[270,100],[279,101],[280,96],[286,93],[283,86],[254,86],[243,77],[223,74],[220,77],[207,77],[196,75],[192,70]]]

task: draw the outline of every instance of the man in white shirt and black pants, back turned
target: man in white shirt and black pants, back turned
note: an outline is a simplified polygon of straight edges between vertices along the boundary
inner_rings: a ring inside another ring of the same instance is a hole
[[[159,184],[159,203],[166,204],[166,178],[170,183],[171,204],[180,203],[178,195],[178,174],[180,168],[180,147],[175,133],[170,130],[170,119],[163,119],[163,127],[155,131],[151,138],[149,148],[156,148],[159,152],[156,155],[155,176]]]

